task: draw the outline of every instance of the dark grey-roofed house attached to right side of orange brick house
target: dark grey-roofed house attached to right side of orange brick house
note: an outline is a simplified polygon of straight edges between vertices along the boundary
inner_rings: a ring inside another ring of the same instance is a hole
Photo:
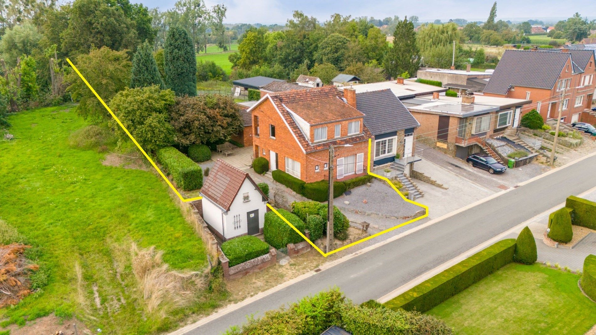
[[[397,155],[410,167],[420,160],[414,156],[414,131],[420,123],[390,89],[357,93],[356,108],[365,114],[364,125],[374,136],[375,167],[394,162]]]

